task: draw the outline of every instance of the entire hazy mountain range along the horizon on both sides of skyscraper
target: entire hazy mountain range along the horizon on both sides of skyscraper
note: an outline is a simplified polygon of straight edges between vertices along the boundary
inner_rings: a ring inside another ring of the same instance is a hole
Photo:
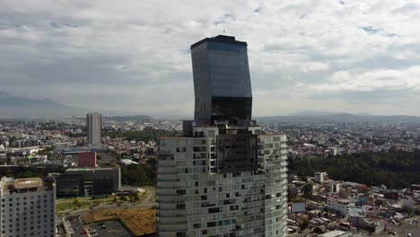
[[[88,112],[100,112],[104,117],[116,120],[147,120],[153,118],[192,119],[182,110],[162,111],[158,114],[137,115],[138,113],[117,110],[91,110],[67,106],[56,101],[33,100],[0,92],[0,118],[54,118],[85,116]],[[389,122],[420,123],[420,117],[394,115],[377,116],[366,113],[350,114],[328,111],[302,111],[284,116],[256,117],[258,121],[271,122]]]

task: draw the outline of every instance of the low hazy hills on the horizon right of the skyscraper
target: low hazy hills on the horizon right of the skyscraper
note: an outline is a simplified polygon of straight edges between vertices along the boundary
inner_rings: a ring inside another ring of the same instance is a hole
[[[291,115],[256,118],[265,122],[389,122],[389,123],[420,123],[420,117],[393,115],[378,116],[366,114],[332,113],[330,115]]]

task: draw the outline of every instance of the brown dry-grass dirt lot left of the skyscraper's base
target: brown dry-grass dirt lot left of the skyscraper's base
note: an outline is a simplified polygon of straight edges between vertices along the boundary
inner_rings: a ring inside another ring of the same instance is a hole
[[[136,236],[156,233],[156,210],[144,207],[122,207],[92,211],[82,215],[87,224],[120,219]]]

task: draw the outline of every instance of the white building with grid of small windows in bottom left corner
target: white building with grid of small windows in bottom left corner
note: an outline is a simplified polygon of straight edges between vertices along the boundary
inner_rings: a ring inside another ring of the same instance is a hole
[[[0,181],[1,237],[54,237],[56,234],[56,183],[48,179]]]

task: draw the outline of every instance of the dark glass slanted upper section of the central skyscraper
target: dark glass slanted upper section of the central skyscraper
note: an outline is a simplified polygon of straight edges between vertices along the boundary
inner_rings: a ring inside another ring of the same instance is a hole
[[[250,119],[252,91],[247,43],[219,35],[191,46],[195,101],[195,120],[213,124],[226,119],[237,124]]]

